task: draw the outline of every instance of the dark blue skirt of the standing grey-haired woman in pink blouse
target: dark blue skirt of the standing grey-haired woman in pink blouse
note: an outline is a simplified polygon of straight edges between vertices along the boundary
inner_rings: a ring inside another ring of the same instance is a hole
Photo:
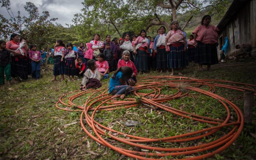
[[[188,54],[184,51],[184,44],[181,46],[169,46],[170,52],[167,54],[167,65],[169,68],[183,68],[188,66]]]

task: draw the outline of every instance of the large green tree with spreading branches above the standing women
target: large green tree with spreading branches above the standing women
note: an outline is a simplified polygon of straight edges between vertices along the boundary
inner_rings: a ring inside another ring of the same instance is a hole
[[[184,29],[195,13],[206,8],[210,8],[210,12],[223,13],[225,7],[219,6],[225,6],[225,2],[230,0],[84,0],[83,14],[76,14],[73,21],[76,26],[86,28],[88,34],[104,33],[108,28],[108,33],[117,32],[121,36],[127,30],[138,33],[142,28],[148,30],[159,25],[170,30],[171,21],[181,15],[187,20]],[[182,13],[186,11],[190,14],[185,17]]]

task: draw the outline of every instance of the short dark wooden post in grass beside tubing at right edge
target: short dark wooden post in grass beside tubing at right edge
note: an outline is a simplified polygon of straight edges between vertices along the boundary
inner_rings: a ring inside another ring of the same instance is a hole
[[[252,123],[252,104],[253,104],[253,92],[244,91],[244,122],[245,124]]]

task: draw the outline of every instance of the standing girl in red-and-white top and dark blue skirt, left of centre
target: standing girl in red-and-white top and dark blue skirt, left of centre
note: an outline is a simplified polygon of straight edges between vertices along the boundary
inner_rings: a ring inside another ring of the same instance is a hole
[[[63,81],[64,80],[64,66],[65,66],[65,61],[63,61],[63,58],[64,58],[64,53],[66,52],[66,47],[62,40],[58,39],[56,41],[53,51],[54,51],[55,60],[54,60],[54,65],[53,65],[52,81],[56,81],[56,77],[58,75],[61,75],[60,81]]]

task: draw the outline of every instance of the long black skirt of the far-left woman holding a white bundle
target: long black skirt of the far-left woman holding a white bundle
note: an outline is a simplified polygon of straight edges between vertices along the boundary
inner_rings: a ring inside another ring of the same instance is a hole
[[[31,73],[31,70],[30,70]],[[12,56],[11,62],[11,76],[19,76],[21,79],[28,79],[27,60],[25,58]]]

